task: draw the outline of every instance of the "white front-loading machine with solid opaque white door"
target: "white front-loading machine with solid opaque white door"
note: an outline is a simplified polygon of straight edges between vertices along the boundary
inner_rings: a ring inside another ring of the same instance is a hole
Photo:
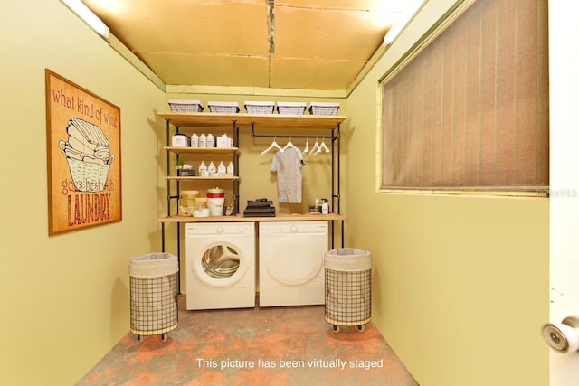
[[[260,222],[260,306],[325,303],[327,228],[327,221]]]

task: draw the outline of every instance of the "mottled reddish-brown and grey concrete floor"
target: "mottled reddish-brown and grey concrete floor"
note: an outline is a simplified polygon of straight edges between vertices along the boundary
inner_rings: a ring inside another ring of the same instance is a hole
[[[178,327],[128,333],[79,385],[417,385],[372,322],[332,331],[324,306],[187,311]]]

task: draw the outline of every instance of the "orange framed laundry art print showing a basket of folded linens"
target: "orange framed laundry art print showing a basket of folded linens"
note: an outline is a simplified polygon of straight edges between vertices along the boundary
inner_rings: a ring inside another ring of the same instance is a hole
[[[49,235],[121,221],[120,108],[45,78]]]

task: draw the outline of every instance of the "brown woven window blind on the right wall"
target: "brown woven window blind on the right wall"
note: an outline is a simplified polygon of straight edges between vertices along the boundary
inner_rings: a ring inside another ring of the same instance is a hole
[[[479,0],[385,80],[382,188],[548,188],[546,6]]]

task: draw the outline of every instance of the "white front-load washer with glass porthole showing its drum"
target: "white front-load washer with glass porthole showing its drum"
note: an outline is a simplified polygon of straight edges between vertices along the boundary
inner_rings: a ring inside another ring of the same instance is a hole
[[[187,309],[255,306],[253,222],[187,223]]]

